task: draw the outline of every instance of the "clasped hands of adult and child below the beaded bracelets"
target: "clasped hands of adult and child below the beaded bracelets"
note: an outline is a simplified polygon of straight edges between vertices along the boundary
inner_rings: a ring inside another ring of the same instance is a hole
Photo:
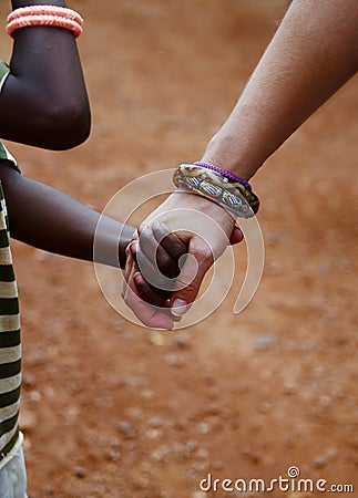
[[[142,222],[127,250],[123,298],[134,314],[149,326],[172,329],[194,302],[213,262],[229,242],[243,239],[234,225],[232,215],[215,203],[191,193],[173,193]],[[176,239],[165,240],[167,232]],[[176,245],[187,248],[180,274],[175,274],[173,261],[160,263],[156,248],[161,240],[172,249],[174,260],[176,255]]]

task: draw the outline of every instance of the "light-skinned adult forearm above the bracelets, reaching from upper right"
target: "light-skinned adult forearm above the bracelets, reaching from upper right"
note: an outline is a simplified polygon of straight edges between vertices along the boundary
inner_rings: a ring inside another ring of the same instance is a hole
[[[358,69],[357,0],[294,0],[202,160],[250,178]]]

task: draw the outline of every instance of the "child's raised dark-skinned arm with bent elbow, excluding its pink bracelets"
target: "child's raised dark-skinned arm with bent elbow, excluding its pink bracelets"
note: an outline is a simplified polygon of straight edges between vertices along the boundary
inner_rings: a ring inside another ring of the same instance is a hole
[[[13,0],[67,7],[65,1]],[[39,147],[62,149],[82,143],[91,116],[81,62],[72,32],[31,27],[14,32],[11,73],[0,93],[0,136]]]

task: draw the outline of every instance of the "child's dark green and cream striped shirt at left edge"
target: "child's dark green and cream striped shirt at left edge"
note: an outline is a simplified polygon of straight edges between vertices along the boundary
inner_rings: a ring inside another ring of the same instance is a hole
[[[0,62],[0,91],[9,68]],[[0,142],[0,167],[16,159]],[[18,287],[10,250],[7,206],[0,183],[0,468],[21,442],[19,406],[21,387],[21,340]]]

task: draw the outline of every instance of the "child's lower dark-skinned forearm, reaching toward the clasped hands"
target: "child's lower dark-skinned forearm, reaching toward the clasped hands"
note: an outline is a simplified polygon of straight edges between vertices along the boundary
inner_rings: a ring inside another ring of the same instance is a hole
[[[30,246],[86,261],[93,260],[93,241],[101,215],[68,195],[1,166],[11,237]],[[134,228],[103,217],[98,232],[96,261],[125,263],[125,247]]]

